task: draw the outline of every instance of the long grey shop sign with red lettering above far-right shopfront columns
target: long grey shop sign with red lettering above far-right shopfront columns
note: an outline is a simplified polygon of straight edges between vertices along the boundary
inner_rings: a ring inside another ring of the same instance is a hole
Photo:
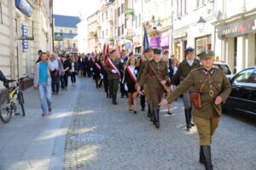
[[[252,33],[256,31],[256,19],[242,20],[228,26],[220,26],[218,28],[218,38],[237,37],[242,34]]]

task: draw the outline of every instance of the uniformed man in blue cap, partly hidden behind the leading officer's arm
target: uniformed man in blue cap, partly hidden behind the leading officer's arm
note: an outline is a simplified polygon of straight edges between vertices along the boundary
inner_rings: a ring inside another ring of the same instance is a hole
[[[181,62],[177,68],[177,73],[172,77],[172,83],[177,82],[178,79],[182,82],[193,69],[201,67],[200,62],[195,58],[194,48],[187,48],[185,50],[186,59]],[[183,93],[183,105],[185,111],[185,118],[187,124],[187,130],[192,126],[195,126],[191,122],[191,101],[189,98],[190,94],[194,93],[194,89],[191,87]]]

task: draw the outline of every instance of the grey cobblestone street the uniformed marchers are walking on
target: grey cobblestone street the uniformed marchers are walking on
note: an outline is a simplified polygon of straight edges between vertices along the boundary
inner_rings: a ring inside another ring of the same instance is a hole
[[[198,162],[196,127],[185,130],[182,99],[172,104],[172,116],[166,115],[166,106],[161,108],[156,129],[140,106],[134,115],[127,99],[118,98],[119,105],[112,105],[91,79],[80,82],[67,133],[65,169],[204,169]],[[247,122],[222,116],[212,140],[214,169],[256,169],[255,132]]]

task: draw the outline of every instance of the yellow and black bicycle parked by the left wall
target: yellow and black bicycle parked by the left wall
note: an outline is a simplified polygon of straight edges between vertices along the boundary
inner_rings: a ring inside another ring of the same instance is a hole
[[[24,109],[24,98],[20,88],[20,81],[24,80],[26,77],[21,77],[18,80],[6,80],[3,82],[5,88],[9,89],[9,93],[3,96],[0,99],[0,118],[4,123],[10,121],[13,113],[15,116],[20,115],[17,112],[17,101],[21,107],[22,116],[25,116],[25,109]],[[16,82],[16,86],[12,89],[9,88],[10,82]]]

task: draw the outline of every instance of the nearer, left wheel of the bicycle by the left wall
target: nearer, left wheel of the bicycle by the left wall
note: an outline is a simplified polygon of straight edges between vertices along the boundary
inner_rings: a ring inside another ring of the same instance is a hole
[[[9,106],[10,106],[9,97],[6,95],[3,95],[0,99],[0,104],[1,104],[0,118],[4,123],[9,122],[9,120],[12,117],[12,111],[9,109]]]

